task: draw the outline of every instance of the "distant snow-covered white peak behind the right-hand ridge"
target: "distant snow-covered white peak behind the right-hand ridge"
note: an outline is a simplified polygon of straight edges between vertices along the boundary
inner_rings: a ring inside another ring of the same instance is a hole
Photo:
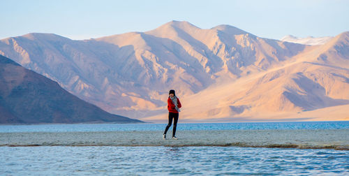
[[[333,37],[326,36],[326,37],[306,37],[306,38],[297,38],[292,35],[284,36],[281,38],[281,41],[286,41],[290,43],[299,43],[299,44],[304,44],[304,45],[323,45],[330,41]]]

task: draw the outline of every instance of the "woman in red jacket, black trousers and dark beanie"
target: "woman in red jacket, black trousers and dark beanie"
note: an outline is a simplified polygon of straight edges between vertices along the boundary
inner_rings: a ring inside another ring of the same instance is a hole
[[[173,122],[173,131],[172,131],[172,139],[177,140],[176,137],[176,129],[177,129],[177,122],[178,122],[178,115],[181,110],[181,102],[179,101],[179,98],[177,98],[176,93],[174,90],[170,90],[168,93],[168,126],[166,126],[165,132],[163,133],[163,139],[166,139],[166,133],[168,133],[168,129],[170,128],[172,124],[172,119],[174,119]]]

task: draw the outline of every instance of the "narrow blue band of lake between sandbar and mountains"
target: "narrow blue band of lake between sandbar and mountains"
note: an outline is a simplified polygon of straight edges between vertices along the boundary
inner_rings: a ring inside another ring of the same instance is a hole
[[[166,124],[40,124],[0,125],[0,133],[12,132],[71,132],[71,131],[163,131]],[[349,129],[346,122],[259,122],[177,124],[177,130],[235,129]]]

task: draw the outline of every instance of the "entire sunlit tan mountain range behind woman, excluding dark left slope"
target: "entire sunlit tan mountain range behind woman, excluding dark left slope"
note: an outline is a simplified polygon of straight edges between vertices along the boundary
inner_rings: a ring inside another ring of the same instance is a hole
[[[166,120],[168,90],[175,89],[187,122],[346,120],[348,45],[349,32],[303,45],[229,25],[172,21],[83,41],[37,33],[5,38],[0,54],[135,119]]]

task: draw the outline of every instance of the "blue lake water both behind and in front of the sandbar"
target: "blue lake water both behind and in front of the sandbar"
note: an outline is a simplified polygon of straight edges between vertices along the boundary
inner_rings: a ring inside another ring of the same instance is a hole
[[[0,133],[163,131],[166,124],[1,125]],[[179,131],[349,129],[349,122],[178,124]],[[10,135],[8,135],[10,136]],[[349,175],[349,150],[251,147],[0,147],[0,175]]]

